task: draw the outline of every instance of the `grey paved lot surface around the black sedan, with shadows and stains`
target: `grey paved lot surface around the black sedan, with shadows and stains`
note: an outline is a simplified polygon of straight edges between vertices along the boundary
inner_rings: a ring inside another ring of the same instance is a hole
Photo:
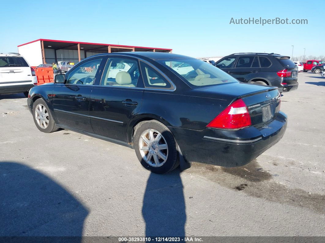
[[[0,236],[325,236],[325,79],[298,77],[286,134],[256,160],[165,175],[121,145],[42,133],[23,94],[0,95]]]

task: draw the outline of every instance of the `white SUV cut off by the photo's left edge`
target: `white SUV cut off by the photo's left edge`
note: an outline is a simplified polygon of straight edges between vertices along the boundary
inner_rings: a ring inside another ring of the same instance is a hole
[[[35,70],[18,53],[0,53],[0,94],[24,93],[37,85]]]

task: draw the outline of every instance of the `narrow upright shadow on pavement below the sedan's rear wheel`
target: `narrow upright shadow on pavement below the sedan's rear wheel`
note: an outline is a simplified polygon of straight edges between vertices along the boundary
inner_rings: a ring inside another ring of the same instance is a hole
[[[185,236],[186,211],[179,169],[164,175],[150,174],[142,215],[146,237]]]

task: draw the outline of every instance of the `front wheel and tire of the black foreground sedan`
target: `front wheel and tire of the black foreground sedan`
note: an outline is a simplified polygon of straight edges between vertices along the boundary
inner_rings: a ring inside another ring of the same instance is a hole
[[[59,130],[50,109],[43,99],[37,99],[33,103],[32,114],[34,123],[41,132],[50,133]]]

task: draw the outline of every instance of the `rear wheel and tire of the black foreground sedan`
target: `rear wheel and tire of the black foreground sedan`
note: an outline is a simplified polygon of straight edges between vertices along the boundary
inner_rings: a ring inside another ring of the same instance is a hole
[[[156,120],[143,121],[134,128],[134,148],[147,170],[163,174],[179,165],[177,144],[171,131]]]

